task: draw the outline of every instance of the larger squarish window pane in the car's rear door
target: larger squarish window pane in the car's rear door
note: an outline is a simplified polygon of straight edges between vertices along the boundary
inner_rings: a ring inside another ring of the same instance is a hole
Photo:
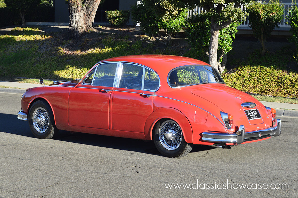
[[[143,68],[141,66],[123,63],[120,88],[142,89]]]

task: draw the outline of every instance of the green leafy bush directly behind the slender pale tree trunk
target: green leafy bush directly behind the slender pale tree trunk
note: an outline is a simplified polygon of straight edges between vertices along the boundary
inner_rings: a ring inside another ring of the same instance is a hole
[[[196,15],[187,22],[186,34],[192,50],[197,52],[198,57],[204,60],[209,57],[210,42],[210,13]],[[219,30],[218,36],[218,69],[222,73],[226,66],[226,54],[232,50],[233,39],[238,32],[239,23],[233,21],[229,27]]]

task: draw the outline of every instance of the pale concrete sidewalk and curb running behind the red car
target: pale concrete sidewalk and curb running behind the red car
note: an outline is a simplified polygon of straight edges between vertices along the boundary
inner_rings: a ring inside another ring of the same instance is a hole
[[[21,82],[7,82],[0,81],[0,86],[13,87],[13,88],[0,88],[0,93],[19,93],[23,94],[26,89],[31,87],[42,87],[41,84],[30,84]],[[16,89],[19,88],[19,89]],[[264,102],[260,101],[264,106],[276,109],[277,116],[295,117],[298,118],[298,105],[278,103],[278,102]],[[284,110],[287,109],[287,110]],[[289,109],[289,110],[288,110]]]

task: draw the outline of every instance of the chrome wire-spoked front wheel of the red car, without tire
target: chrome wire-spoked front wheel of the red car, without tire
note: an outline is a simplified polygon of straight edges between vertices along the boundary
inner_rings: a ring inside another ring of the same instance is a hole
[[[44,108],[38,107],[34,110],[32,115],[32,122],[33,127],[37,132],[45,132],[49,127],[49,121],[49,114]]]

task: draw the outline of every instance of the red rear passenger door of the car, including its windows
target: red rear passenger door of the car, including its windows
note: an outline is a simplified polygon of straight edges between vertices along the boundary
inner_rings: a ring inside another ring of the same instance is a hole
[[[112,95],[112,129],[144,132],[153,112],[154,91],[159,88],[157,74],[144,66],[120,63],[121,76]]]

